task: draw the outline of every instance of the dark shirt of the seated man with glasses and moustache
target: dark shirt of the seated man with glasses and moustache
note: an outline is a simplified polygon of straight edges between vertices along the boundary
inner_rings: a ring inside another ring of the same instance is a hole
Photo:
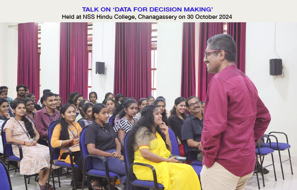
[[[193,114],[191,114],[181,126],[181,138],[183,140],[194,139],[194,141],[200,142],[202,129],[203,117],[202,120],[200,120],[198,117],[195,117]]]

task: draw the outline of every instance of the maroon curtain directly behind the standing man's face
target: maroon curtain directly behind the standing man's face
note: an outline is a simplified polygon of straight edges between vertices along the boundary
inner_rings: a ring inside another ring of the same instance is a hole
[[[208,73],[204,63],[204,52],[208,38],[223,33],[223,22],[200,22],[199,62],[198,62],[198,98],[205,100],[210,79],[214,74]]]

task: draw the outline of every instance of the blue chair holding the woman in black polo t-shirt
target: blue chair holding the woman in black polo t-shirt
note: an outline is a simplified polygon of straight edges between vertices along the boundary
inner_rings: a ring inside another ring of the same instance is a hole
[[[97,177],[103,177],[107,178],[108,180],[108,187],[111,189],[110,182],[115,181],[118,177],[116,173],[110,172],[108,170],[108,164],[105,160],[105,157],[98,156],[98,155],[90,155],[87,149],[87,146],[85,145],[85,131],[88,126],[85,126],[83,130],[81,131],[79,135],[79,146],[80,146],[80,153],[81,157],[83,158],[83,185],[82,190],[84,188],[85,178],[86,175],[88,176],[97,176]],[[97,170],[93,168],[93,162],[92,157],[97,157],[101,160],[103,160],[105,165],[105,171],[104,170]]]

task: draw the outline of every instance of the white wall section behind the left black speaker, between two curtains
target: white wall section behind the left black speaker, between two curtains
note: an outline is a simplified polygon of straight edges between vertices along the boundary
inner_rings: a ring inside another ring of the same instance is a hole
[[[107,92],[113,93],[115,36],[115,22],[93,22],[92,91],[97,93],[98,103]],[[105,62],[105,74],[96,74],[96,61]]]

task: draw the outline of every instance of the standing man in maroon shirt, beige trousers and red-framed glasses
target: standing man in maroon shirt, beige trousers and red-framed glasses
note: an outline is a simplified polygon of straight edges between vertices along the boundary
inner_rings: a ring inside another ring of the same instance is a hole
[[[255,142],[270,123],[270,114],[252,81],[235,65],[231,35],[207,40],[204,62],[214,73],[206,94],[200,173],[203,190],[244,189],[255,169]]]

